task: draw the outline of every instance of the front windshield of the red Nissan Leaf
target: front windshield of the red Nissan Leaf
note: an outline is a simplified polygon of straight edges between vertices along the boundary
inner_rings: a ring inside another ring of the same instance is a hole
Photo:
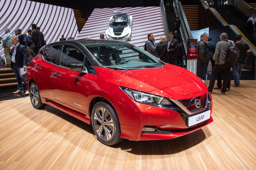
[[[163,66],[156,57],[132,44],[85,44],[84,46],[102,66],[107,68],[126,70]]]

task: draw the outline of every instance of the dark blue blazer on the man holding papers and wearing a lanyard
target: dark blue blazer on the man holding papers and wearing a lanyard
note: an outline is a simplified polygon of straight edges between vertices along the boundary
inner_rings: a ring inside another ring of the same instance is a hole
[[[12,52],[10,51],[10,54],[12,56],[14,50]],[[19,44],[16,49],[15,53],[15,64],[19,66],[19,68],[22,68],[23,66],[28,66],[28,51],[27,48]],[[11,68],[13,67],[13,62],[11,62]]]

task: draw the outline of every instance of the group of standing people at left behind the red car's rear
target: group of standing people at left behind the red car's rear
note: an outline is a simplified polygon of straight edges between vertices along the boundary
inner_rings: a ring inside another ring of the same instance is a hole
[[[27,34],[22,34],[21,29],[15,31],[15,35],[10,33],[10,29],[5,29],[5,36],[2,40],[6,64],[4,67],[11,67],[18,82],[18,90],[14,94],[24,93],[28,95],[26,84],[26,69],[28,61],[31,61],[39,49],[46,44],[40,27],[36,24],[31,25]],[[23,70],[23,71],[22,71]],[[23,84],[24,82],[24,88]]]

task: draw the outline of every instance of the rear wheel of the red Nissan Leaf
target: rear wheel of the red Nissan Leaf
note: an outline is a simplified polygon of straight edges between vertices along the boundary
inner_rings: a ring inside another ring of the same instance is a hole
[[[46,106],[45,103],[42,103],[39,90],[35,82],[32,82],[29,87],[30,101],[35,109],[42,109]]]

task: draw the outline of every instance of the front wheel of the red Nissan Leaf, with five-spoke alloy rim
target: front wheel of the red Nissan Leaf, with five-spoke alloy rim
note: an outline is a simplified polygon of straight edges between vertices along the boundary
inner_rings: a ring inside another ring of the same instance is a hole
[[[111,146],[123,141],[117,114],[107,103],[94,105],[91,120],[93,131],[101,143]]]

